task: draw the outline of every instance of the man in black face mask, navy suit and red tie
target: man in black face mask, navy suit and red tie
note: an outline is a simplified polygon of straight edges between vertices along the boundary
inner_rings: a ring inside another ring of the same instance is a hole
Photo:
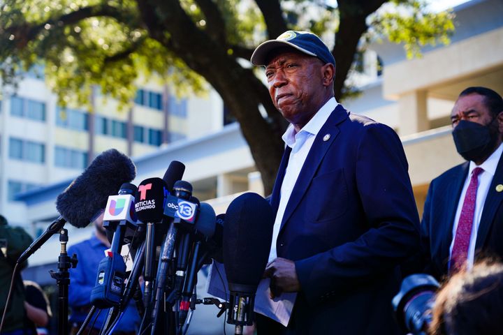
[[[461,92],[451,112],[453,139],[467,160],[441,174],[426,197],[421,242],[438,280],[474,260],[503,256],[503,101],[486,87]]]

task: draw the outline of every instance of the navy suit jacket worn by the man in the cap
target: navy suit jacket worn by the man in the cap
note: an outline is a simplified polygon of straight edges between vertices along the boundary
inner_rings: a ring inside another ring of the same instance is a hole
[[[272,192],[276,211],[289,154],[287,147]],[[301,286],[288,334],[398,334],[391,307],[398,265],[419,248],[407,169],[391,128],[337,105],[309,151],[277,238],[278,257],[296,262]]]

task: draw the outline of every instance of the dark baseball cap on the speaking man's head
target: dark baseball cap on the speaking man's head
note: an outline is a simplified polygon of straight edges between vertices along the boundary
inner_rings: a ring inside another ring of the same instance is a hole
[[[309,31],[285,31],[279,35],[275,40],[266,40],[256,47],[254,53],[251,55],[251,64],[255,66],[265,66],[268,54],[279,47],[293,47],[294,49],[308,54],[309,56],[321,59],[325,64],[331,63],[335,66],[335,59],[332,52],[322,40],[315,34]]]

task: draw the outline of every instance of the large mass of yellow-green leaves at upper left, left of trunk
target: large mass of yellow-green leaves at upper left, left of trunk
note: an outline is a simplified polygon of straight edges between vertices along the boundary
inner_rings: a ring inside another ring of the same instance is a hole
[[[101,5],[112,8],[115,17],[65,21],[70,13],[89,6],[99,11]],[[60,105],[77,103],[89,110],[93,87],[116,98],[121,107],[131,104],[141,84],[139,73],[144,80],[172,83],[178,96],[201,94],[207,88],[200,75],[147,36],[135,1],[7,1],[1,9],[3,84],[17,84],[16,73],[40,63]]]

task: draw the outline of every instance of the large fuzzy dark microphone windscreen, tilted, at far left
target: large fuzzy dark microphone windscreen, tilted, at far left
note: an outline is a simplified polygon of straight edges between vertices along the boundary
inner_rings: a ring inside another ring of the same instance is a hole
[[[106,207],[108,196],[135,177],[136,167],[128,156],[116,149],[103,151],[58,195],[57,211],[71,225],[84,228]]]

